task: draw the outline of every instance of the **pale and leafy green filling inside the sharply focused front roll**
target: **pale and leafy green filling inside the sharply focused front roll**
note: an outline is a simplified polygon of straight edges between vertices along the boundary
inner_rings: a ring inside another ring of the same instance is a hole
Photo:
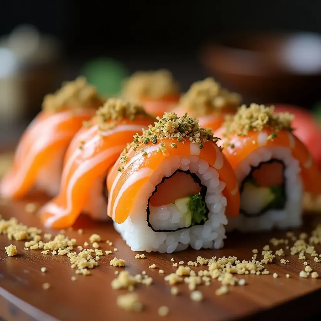
[[[178,211],[183,214],[185,227],[201,224],[207,220],[206,204],[199,194],[179,198],[173,202]]]

